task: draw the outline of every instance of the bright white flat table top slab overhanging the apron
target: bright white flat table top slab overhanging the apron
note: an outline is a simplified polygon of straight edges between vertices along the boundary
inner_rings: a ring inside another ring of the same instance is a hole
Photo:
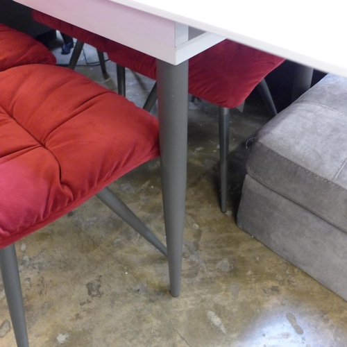
[[[347,76],[341,0],[110,0]]]

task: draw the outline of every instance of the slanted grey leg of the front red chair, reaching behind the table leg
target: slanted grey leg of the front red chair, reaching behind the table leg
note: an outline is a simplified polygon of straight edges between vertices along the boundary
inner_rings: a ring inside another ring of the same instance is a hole
[[[147,228],[142,221],[140,221],[133,211],[121,201],[120,198],[115,196],[108,187],[102,189],[96,196],[105,203],[115,214],[118,214],[121,219],[126,221],[132,228],[134,228],[140,235],[142,235],[147,241],[149,241],[155,248],[157,248],[162,254],[167,256],[167,248],[160,242],[149,228]]]

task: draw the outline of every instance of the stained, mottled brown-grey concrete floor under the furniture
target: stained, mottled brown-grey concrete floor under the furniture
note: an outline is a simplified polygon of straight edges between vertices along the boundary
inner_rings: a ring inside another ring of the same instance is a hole
[[[59,62],[69,56],[60,56]],[[86,49],[96,61],[93,49]],[[83,65],[85,62],[81,60]],[[115,89],[115,65],[78,67]],[[142,105],[151,84],[127,71]],[[153,110],[155,113],[156,110]],[[257,94],[231,111],[228,212],[219,210],[217,107],[189,103],[182,293],[169,294],[167,260],[97,198],[17,243],[28,335],[35,347],[343,347],[347,303],[235,225],[244,164],[269,117]],[[112,184],[162,239],[160,164]],[[1,282],[0,282],[1,283]],[[15,338],[0,284],[0,346]]]

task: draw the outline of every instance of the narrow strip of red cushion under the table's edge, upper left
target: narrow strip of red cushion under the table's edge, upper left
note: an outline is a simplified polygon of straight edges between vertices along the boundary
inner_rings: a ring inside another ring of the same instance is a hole
[[[33,19],[39,23],[45,24],[46,26],[65,33],[66,35],[74,37],[81,42],[90,44],[96,49],[99,49],[101,52],[106,51],[106,46],[109,40],[103,36],[94,34],[91,31],[87,31],[82,28],[78,28],[78,26],[74,26],[73,24],[69,24],[61,19],[51,17],[50,15],[46,15],[45,13],[37,10],[32,10],[31,14]]]

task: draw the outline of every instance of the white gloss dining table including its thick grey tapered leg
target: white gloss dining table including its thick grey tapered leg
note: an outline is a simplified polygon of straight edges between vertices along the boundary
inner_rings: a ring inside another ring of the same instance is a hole
[[[347,76],[344,3],[330,0],[16,0],[157,58],[164,223],[180,294],[187,177],[188,60],[230,39]]]

